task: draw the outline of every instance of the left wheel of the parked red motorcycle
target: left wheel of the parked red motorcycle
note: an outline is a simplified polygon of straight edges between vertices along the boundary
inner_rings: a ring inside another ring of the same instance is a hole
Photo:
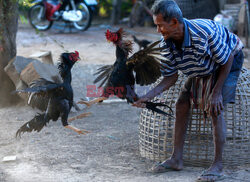
[[[45,16],[45,7],[43,4],[36,4],[29,9],[29,22],[37,30],[48,30],[53,21],[48,21]]]

